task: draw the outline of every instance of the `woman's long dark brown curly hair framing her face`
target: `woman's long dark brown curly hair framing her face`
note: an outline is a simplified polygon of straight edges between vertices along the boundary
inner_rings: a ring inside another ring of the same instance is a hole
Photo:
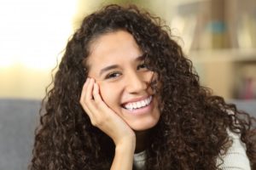
[[[200,85],[191,61],[160,18],[135,6],[118,5],[86,16],[67,42],[53,88],[42,104],[29,168],[110,168],[113,141],[91,125],[79,98],[88,74],[91,42],[119,30],[135,38],[160,83],[157,89],[151,84],[160,96],[161,116],[151,131],[146,169],[218,169],[217,157],[230,147],[227,130],[241,136],[256,169],[255,119]]]

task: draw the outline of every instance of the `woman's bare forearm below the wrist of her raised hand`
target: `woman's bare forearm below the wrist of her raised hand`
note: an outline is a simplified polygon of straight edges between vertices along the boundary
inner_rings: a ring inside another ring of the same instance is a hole
[[[134,141],[116,145],[111,170],[131,170],[133,164],[134,150]]]

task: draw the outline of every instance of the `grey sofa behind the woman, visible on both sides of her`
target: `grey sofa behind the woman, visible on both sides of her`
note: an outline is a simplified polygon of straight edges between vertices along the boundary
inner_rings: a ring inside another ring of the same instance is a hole
[[[232,100],[256,116],[256,100]],[[40,100],[0,99],[0,170],[25,170],[32,157]]]

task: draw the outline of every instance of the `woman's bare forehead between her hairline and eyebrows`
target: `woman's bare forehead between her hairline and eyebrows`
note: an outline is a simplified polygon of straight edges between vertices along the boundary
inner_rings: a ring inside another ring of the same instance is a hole
[[[136,59],[142,51],[127,31],[114,31],[97,37],[90,45],[87,65],[112,64],[120,59]]]

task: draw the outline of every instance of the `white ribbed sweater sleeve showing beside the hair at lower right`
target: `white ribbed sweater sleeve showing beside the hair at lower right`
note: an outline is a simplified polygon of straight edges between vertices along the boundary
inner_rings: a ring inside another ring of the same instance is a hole
[[[217,165],[223,170],[250,170],[250,162],[246,154],[246,145],[241,142],[240,135],[228,130],[233,144],[224,156],[219,156]],[[221,161],[223,159],[223,163]],[[222,164],[221,164],[222,163]]]

